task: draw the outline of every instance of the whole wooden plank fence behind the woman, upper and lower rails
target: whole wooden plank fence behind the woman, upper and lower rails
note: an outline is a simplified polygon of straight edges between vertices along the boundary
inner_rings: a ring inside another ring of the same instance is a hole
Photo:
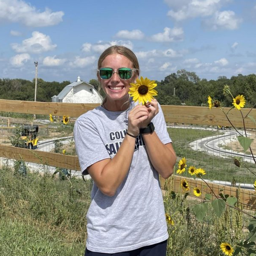
[[[70,116],[78,117],[82,113],[85,113],[98,104],[73,104],[73,103],[55,103],[55,102],[27,102],[27,101],[13,101],[0,99],[0,111],[14,112],[14,113],[26,113],[26,114],[41,114],[56,116]],[[189,107],[189,106],[161,106],[163,113],[168,123],[184,123],[184,124],[196,124],[196,125],[208,125],[208,126],[230,126],[226,116],[219,108],[212,108],[209,110],[207,107]],[[227,113],[229,108],[224,108]],[[242,109],[244,116],[250,109]],[[256,109],[250,111],[250,118],[247,117],[243,124],[241,114],[237,109],[233,109],[229,112],[229,119],[235,127],[256,128],[254,120],[256,120]],[[62,155],[56,153],[49,153],[43,151],[33,151],[24,148],[15,148],[13,146],[7,146],[0,144],[0,157],[24,160],[31,163],[45,164],[49,166],[67,168],[80,171],[78,157],[71,155]],[[173,188],[180,188],[180,180],[182,177],[173,175],[173,182],[175,186]],[[189,183],[189,187],[197,186],[201,181],[186,178]],[[165,186],[171,186],[166,184],[165,180],[161,178],[161,186],[164,189]],[[220,189],[223,189],[224,194],[228,193],[234,196],[238,195],[238,189],[236,187],[223,186],[210,183],[211,188],[216,194],[219,194]],[[205,193],[209,193],[209,187],[205,189],[201,197],[204,198]],[[192,190],[190,191],[192,194]],[[241,200],[243,201],[244,208],[255,209],[256,197],[253,195],[253,191],[247,189],[241,189]]]

